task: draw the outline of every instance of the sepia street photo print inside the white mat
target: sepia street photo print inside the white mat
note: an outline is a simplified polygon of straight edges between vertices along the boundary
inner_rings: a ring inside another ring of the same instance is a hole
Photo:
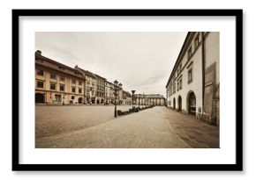
[[[35,148],[221,148],[220,32],[35,32]]]

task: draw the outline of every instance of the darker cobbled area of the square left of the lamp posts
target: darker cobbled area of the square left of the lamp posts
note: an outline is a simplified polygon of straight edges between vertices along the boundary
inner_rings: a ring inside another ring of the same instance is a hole
[[[131,105],[117,106],[129,110]],[[86,118],[85,118],[86,117]],[[68,133],[114,119],[113,105],[36,105],[35,137]]]

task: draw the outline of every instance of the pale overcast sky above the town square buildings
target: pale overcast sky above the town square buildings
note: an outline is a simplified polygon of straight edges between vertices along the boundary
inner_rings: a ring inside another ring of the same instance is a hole
[[[35,51],[89,70],[124,90],[165,97],[165,85],[187,32],[36,32]]]

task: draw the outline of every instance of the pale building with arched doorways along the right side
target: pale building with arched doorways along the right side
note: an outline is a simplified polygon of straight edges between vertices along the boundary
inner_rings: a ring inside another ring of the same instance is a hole
[[[167,106],[219,125],[220,33],[188,32],[166,84]]]

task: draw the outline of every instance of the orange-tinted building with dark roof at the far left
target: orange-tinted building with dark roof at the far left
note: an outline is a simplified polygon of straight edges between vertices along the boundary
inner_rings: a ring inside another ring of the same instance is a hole
[[[83,104],[84,84],[78,70],[35,52],[35,104]]]

